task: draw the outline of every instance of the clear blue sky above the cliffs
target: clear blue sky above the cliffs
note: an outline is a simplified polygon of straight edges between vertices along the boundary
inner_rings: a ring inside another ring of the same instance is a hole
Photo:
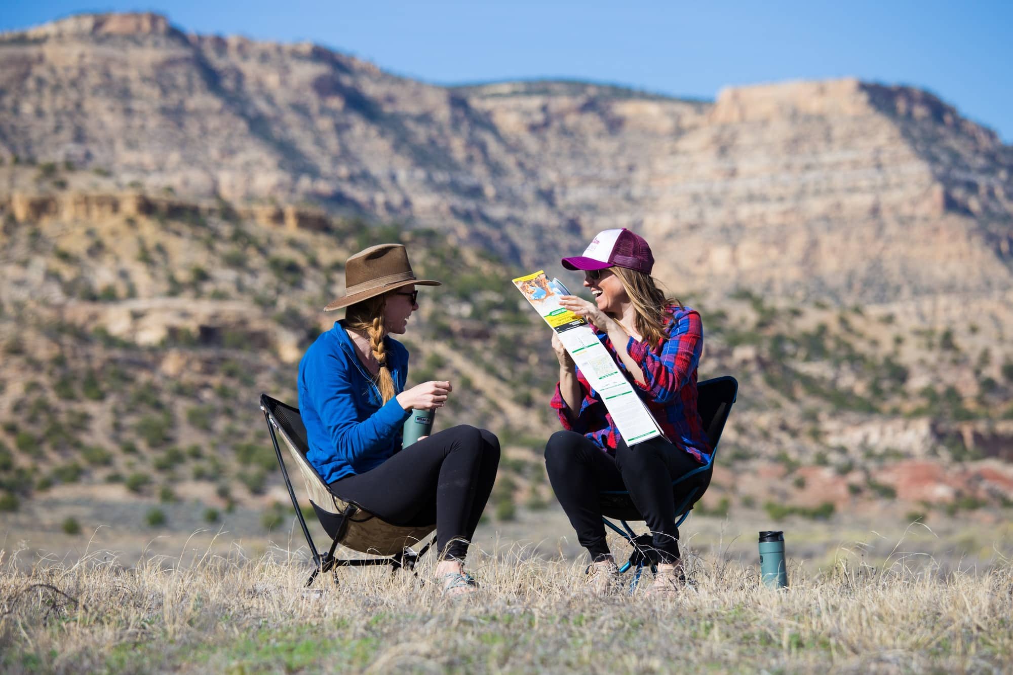
[[[184,30],[315,43],[440,84],[560,77],[713,98],[727,85],[857,76],[927,88],[1013,141],[1013,2],[7,3],[0,30],[153,10]]]

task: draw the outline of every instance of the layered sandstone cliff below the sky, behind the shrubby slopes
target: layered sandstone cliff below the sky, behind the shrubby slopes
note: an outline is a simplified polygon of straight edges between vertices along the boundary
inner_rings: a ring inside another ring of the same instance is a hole
[[[0,156],[97,167],[120,188],[309,201],[526,267],[630,226],[694,291],[886,302],[1013,287],[1013,151],[924,91],[455,89],[152,14],[7,33],[0,55]]]

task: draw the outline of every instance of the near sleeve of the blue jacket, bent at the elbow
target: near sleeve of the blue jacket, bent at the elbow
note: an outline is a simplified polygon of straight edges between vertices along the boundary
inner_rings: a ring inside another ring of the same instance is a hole
[[[306,393],[320,416],[320,422],[330,438],[337,457],[352,466],[363,460],[382,455],[391,440],[400,433],[408,419],[396,398],[391,398],[379,410],[359,419],[362,392],[348,376],[347,364],[340,356],[327,354],[322,363],[308,363]]]

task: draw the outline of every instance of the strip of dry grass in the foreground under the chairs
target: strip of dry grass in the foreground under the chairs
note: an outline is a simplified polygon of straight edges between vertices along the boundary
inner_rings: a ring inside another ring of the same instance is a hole
[[[618,549],[618,548],[617,548]],[[473,554],[483,591],[442,598],[408,574],[344,571],[302,588],[305,556],[186,552],[127,567],[0,554],[0,667],[21,671],[1009,672],[1013,562],[944,572],[869,566],[842,550],[791,589],[721,555],[690,557],[695,588],[663,602],[592,599],[579,560],[514,545]],[[3,556],[6,556],[5,558]],[[421,579],[432,573],[422,564]]]

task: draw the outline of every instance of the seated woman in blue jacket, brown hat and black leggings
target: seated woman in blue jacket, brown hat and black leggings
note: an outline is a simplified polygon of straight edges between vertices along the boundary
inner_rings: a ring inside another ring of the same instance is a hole
[[[317,338],[299,364],[299,408],[307,458],[338,497],[395,525],[437,524],[437,577],[445,593],[476,588],[464,559],[492,491],[499,442],[459,426],[401,448],[412,408],[443,407],[449,381],[405,389],[402,334],[418,308],[417,280],[401,244],[380,244],[345,264],[345,294],[324,308],[345,317]]]

